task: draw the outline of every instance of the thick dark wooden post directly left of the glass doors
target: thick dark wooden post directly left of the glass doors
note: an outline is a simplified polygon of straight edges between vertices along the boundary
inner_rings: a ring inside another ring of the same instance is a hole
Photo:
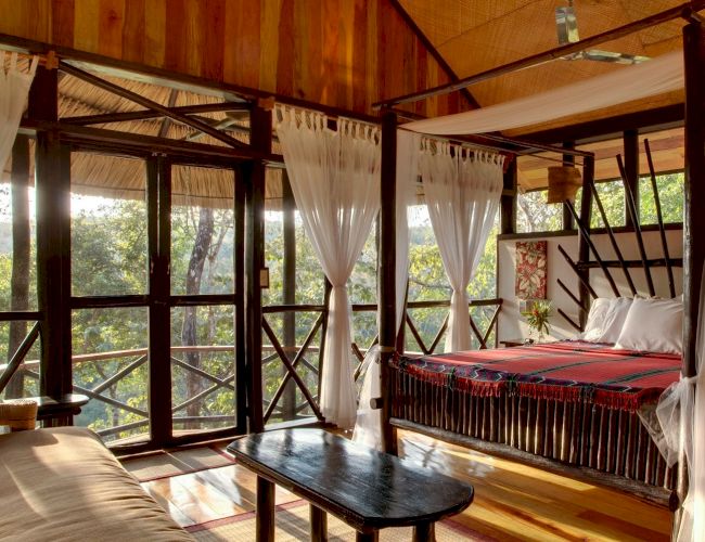
[[[57,73],[39,67],[29,89],[31,120],[56,121]],[[41,312],[40,393],[72,391],[70,153],[53,131],[37,134],[37,298]]]

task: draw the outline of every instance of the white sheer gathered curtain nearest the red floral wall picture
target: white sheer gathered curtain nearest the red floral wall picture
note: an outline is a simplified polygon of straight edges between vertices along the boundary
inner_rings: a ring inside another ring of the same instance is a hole
[[[453,291],[445,351],[469,350],[466,289],[495,223],[504,157],[428,138],[422,146],[420,166],[428,216]]]

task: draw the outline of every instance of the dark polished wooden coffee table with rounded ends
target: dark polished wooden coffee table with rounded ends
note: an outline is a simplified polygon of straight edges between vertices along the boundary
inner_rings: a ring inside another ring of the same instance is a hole
[[[228,447],[257,474],[257,540],[274,540],[274,483],[310,503],[311,540],[328,540],[325,513],[354,527],[358,541],[386,527],[414,528],[433,540],[435,521],[465,509],[473,487],[409,460],[321,429],[249,435]]]

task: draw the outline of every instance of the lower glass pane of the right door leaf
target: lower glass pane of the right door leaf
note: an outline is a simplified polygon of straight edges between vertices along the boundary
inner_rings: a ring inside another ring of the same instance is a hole
[[[171,310],[175,435],[235,425],[234,344],[232,306]]]

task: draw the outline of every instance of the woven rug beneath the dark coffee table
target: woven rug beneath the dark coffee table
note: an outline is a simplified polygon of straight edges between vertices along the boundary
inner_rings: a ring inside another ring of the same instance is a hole
[[[274,540],[277,542],[308,541],[309,521],[308,503],[306,501],[294,501],[278,505],[275,508],[277,530]],[[216,542],[225,540],[238,540],[242,542],[256,540],[256,517],[254,512],[240,514],[226,519],[218,519],[207,524],[187,527],[196,540]],[[330,542],[355,541],[355,530],[336,517],[328,515],[328,540]],[[380,531],[381,542],[408,542],[411,540],[411,528],[382,529]],[[451,520],[445,519],[436,524],[436,540],[438,542],[454,542],[470,540],[477,542],[490,542],[489,539],[478,532]]]

